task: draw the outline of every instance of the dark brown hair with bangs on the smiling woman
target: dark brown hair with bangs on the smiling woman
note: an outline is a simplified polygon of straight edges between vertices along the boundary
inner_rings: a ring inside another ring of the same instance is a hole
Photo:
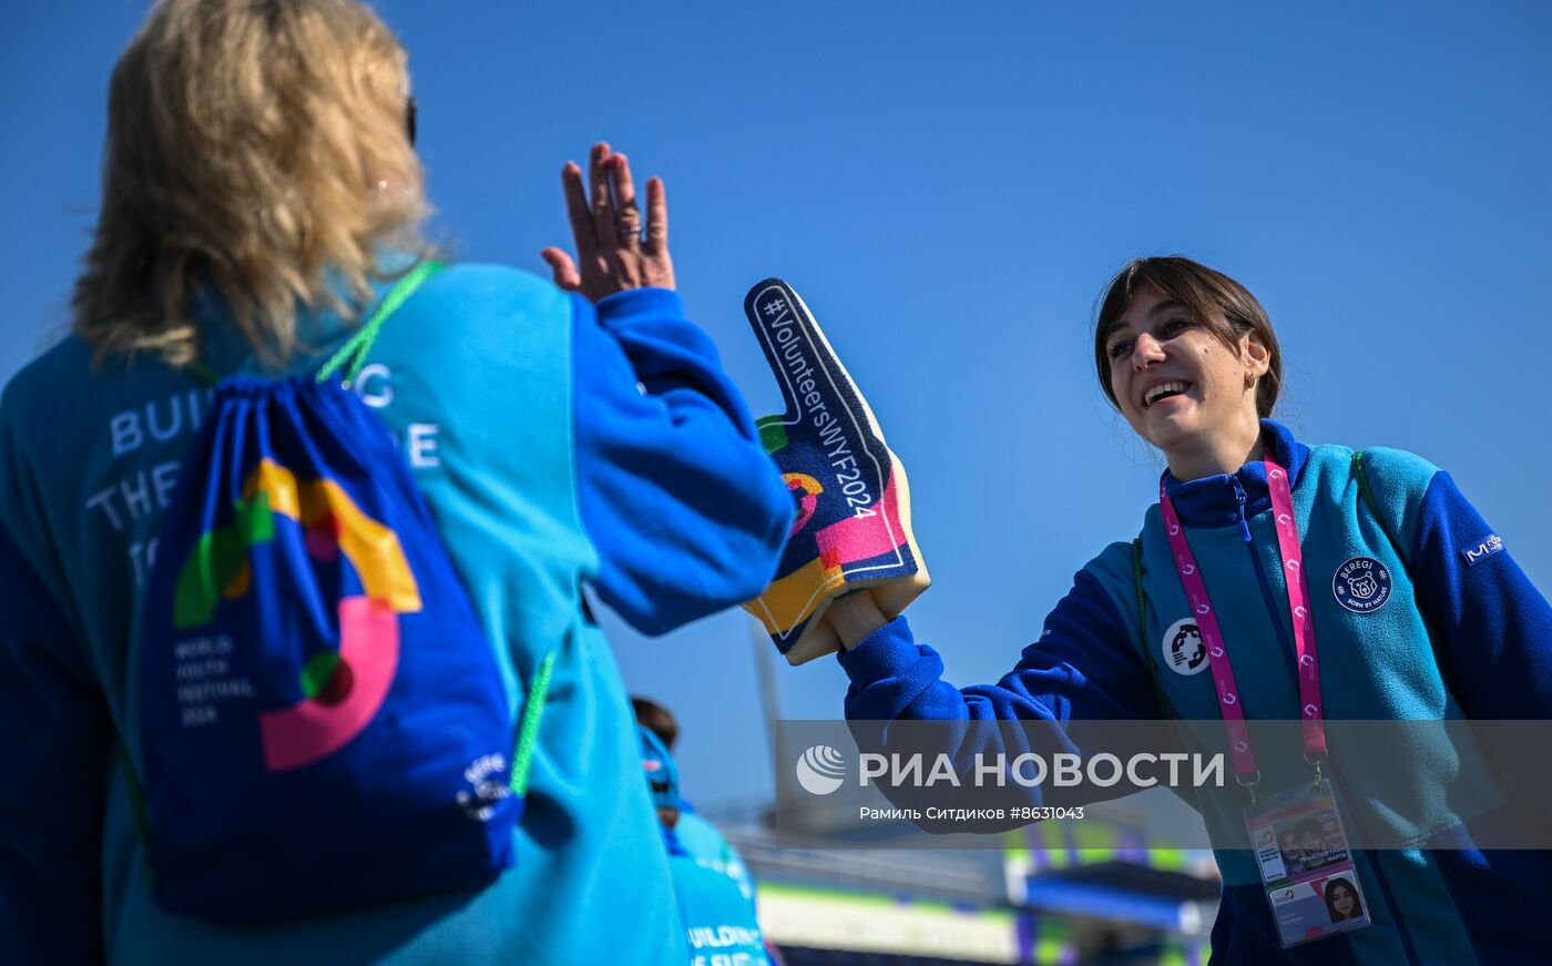
[[[1156,289],[1159,295],[1186,304],[1192,317],[1231,349],[1238,349],[1238,340],[1246,332],[1260,335],[1271,356],[1266,374],[1256,384],[1256,412],[1271,416],[1282,390],[1282,349],[1266,309],[1240,283],[1181,255],[1135,258],[1110,280],[1094,317],[1094,368],[1111,405],[1121,407],[1110,384],[1105,343],[1139,289]]]

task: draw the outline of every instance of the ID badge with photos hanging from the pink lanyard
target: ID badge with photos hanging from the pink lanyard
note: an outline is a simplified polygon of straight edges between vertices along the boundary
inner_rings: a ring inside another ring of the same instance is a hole
[[[1284,949],[1369,924],[1329,781],[1245,809],[1245,828]]]

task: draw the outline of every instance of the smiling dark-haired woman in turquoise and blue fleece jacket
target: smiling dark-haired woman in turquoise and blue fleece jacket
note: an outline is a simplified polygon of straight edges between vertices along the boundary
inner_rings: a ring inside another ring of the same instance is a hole
[[[1282,359],[1266,312],[1243,286],[1186,258],[1133,261],[1100,306],[1094,362],[1105,394],[1169,464],[1162,489],[1206,581],[1246,719],[1301,721],[1302,704],[1266,458],[1291,483],[1327,719],[1552,718],[1546,598],[1450,474],[1395,449],[1370,449],[1355,461],[1353,450],[1307,446],[1270,418]],[[886,621],[868,593],[835,601],[827,620],[844,645],[847,719],[1217,721],[1220,691],[1197,652],[1200,609],[1187,603],[1170,536],[1155,503],[1139,540],[1090,561],[1040,638],[995,685],[950,686],[941,680],[942,658],[916,643],[903,617]],[[1544,767],[1541,749],[1488,738],[1484,745],[1498,775]],[[1460,791],[1453,783],[1468,778],[1436,750],[1400,744],[1375,763],[1333,745],[1327,775],[1341,792],[1369,766],[1389,764],[1409,778],[1411,787],[1397,792],[1408,800],[1347,806],[1372,822],[1411,814],[1440,823],[1426,828],[1450,826],[1448,800]],[[1263,791],[1310,781],[1297,750],[1257,761]],[[1512,778],[1478,778],[1473,794],[1496,803],[1476,817],[1478,828],[1523,822],[1527,809],[1546,814],[1544,801],[1515,798]],[[1201,800],[1215,843],[1245,842],[1243,804],[1245,795]],[[1282,947],[1254,857],[1243,845],[1218,848],[1214,961],[1543,958],[1535,907],[1552,853],[1453,845],[1355,853],[1374,924],[1291,949]]]

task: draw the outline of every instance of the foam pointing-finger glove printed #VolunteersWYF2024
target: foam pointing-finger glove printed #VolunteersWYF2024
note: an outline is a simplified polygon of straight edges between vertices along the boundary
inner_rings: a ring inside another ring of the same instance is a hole
[[[801,665],[841,648],[824,620],[833,599],[866,589],[892,620],[931,578],[911,531],[905,467],[802,298],[768,278],[743,311],[787,402],[756,422],[795,503],[776,579],[743,609]]]

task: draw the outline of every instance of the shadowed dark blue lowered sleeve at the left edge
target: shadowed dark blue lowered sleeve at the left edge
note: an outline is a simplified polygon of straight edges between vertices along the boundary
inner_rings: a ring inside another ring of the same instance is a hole
[[[0,963],[101,963],[107,708],[5,528],[0,613]]]

